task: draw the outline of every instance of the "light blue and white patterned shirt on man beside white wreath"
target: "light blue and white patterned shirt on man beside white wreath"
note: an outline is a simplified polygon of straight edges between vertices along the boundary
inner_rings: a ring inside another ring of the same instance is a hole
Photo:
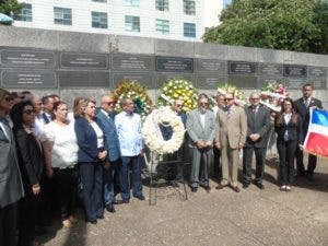
[[[140,116],[136,113],[129,115],[122,112],[116,115],[115,126],[118,133],[121,155],[139,155],[143,149]]]

